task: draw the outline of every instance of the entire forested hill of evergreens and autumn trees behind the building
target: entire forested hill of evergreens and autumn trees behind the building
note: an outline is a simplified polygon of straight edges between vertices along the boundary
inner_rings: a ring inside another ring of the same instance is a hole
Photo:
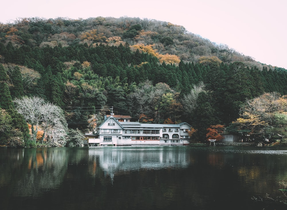
[[[287,143],[287,70],[150,19],[0,23],[0,144],[79,146],[113,107],[144,123]],[[221,132],[220,131],[220,132]]]

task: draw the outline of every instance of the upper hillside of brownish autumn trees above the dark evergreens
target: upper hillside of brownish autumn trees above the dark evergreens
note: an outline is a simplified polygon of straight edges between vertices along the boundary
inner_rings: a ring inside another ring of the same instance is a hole
[[[217,45],[185,30],[183,26],[157,20],[130,17],[83,19],[22,18],[14,24],[0,24],[1,42],[13,46],[69,46],[72,43],[150,45],[159,54],[177,55],[184,62],[198,62],[201,56],[216,56],[223,62],[244,62],[249,67],[263,66],[250,56],[239,54],[227,45]],[[120,37],[120,38],[119,38]]]

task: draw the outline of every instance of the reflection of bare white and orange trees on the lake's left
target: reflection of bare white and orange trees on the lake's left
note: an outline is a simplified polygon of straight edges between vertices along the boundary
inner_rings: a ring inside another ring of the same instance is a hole
[[[63,182],[68,161],[69,164],[77,163],[81,151],[85,150],[7,149],[0,154],[0,187],[6,187],[11,195],[22,197],[37,197],[56,189]]]

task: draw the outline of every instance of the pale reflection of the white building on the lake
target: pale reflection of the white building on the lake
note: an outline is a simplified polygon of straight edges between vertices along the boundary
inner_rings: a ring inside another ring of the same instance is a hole
[[[90,148],[89,160],[94,161],[95,157],[99,158],[102,170],[109,174],[139,169],[185,168],[190,163],[185,148],[170,146]]]

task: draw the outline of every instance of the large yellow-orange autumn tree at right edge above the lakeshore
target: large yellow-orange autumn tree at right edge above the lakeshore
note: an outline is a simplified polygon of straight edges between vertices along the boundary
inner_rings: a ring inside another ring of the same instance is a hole
[[[287,135],[286,125],[287,96],[272,92],[247,100],[240,117],[227,130],[236,128],[238,132],[246,132],[258,140],[275,140]]]

